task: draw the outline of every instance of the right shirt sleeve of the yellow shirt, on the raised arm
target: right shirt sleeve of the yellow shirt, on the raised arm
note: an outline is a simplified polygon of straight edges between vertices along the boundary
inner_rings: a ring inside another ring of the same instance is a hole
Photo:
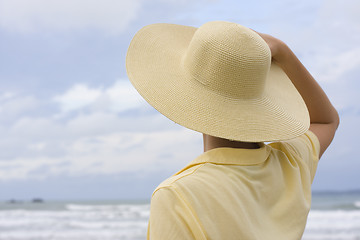
[[[305,161],[308,165],[311,181],[313,181],[319,162],[320,142],[316,135],[310,130],[305,134],[285,142]]]

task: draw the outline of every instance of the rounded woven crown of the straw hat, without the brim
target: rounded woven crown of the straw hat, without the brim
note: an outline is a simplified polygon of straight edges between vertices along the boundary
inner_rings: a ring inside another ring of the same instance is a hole
[[[195,32],[185,70],[212,91],[235,99],[263,95],[271,52],[254,31],[229,22],[209,22]]]

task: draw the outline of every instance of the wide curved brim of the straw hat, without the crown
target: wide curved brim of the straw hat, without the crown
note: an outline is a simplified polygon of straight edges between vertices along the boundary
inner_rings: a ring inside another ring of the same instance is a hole
[[[126,57],[127,74],[150,105],[184,127],[236,141],[286,140],[308,130],[306,105],[275,63],[259,99],[222,96],[194,81],[182,59],[196,30],[161,23],[134,36]]]

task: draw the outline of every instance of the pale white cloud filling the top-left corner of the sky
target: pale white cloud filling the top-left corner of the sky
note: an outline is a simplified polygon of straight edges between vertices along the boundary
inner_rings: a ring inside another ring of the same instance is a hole
[[[22,33],[92,28],[116,34],[139,9],[140,0],[1,0],[0,27]]]

